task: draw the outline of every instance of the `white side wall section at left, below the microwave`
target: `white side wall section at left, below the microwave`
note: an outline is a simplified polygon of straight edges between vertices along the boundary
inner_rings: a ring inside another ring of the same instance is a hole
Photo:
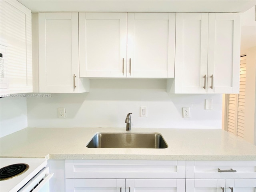
[[[0,98],[0,137],[28,126],[26,98]]]

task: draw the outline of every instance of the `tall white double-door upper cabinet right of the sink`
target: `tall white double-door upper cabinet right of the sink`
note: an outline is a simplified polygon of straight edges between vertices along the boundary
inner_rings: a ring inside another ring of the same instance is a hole
[[[174,93],[238,93],[240,15],[177,13]]]

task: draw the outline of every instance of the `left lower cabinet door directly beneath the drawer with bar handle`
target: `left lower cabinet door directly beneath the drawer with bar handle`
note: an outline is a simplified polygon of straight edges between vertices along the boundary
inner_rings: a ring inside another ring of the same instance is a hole
[[[186,192],[225,192],[225,179],[186,179]]]

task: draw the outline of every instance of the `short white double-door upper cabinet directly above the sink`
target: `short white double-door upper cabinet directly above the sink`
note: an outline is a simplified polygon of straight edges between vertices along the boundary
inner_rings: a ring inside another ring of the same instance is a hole
[[[175,13],[79,13],[80,77],[173,78]]]

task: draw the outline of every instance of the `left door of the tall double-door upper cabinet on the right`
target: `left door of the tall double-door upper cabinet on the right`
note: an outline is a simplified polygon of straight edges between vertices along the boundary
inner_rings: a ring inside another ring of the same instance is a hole
[[[175,93],[207,93],[208,13],[176,14]]]

